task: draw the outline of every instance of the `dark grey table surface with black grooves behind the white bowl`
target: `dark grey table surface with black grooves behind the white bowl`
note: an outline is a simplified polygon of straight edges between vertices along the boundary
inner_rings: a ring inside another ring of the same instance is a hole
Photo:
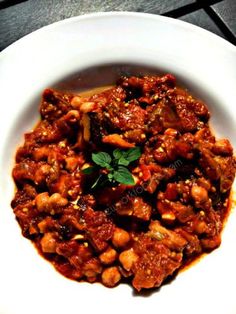
[[[42,26],[72,16],[108,11],[174,17],[236,45],[236,0],[0,0],[0,51]]]

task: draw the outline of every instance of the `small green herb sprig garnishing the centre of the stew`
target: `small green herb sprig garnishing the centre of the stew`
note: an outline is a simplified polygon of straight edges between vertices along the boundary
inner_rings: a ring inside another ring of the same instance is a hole
[[[141,156],[139,147],[130,148],[128,150],[115,149],[112,156],[107,152],[98,152],[92,154],[94,166],[88,167],[82,172],[90,175],[95,171],[99,175],[92,185],[92,188],[103,186],[106,182],[115,184],[116,182],[125,185],[134,185],[134,178],[127,166]],[[101,173],[101,170],[105,170]]]

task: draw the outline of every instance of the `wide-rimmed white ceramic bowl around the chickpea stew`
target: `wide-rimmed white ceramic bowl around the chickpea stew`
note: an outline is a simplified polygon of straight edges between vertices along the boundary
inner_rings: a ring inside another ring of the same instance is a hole
[[[0,54],[0,313],[236,313],[234,211],[219,249],[171,284],[136,296],[127,285],[108,289],[61,276],[21,236],[10,208],[14,153],[38,119],[45,87],[89,88],[111,83],[122,71],[171,72],[206,101],[217,135],[236,147],[235,69],[236,48],[225,40],[181,21],[137,13],[68,19]]]

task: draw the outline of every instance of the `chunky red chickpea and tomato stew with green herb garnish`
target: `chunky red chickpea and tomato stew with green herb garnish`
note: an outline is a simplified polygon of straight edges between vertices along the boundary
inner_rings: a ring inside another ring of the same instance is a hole
[[[173,75],[92,96],[46,89],[40,114],[16,153],[12,208],[64,276],[140,291],[220,245],[233,148]]]

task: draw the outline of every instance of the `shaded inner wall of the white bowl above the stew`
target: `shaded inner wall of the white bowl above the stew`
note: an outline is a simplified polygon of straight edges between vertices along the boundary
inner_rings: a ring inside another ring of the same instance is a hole
[[[168,69],[160,67],[150,67],[143,64],[117,63],[117,64],[102,64],[75,71],[69,75],[58,78],[50,83],[47,87],[52,87],[57,90],[79,93],[85,90],[96,87],[113,85],[121,76],[127,75],[162,75],[168,73]],[[214,92],[209,91],[205,85],[200,85],[198,82],[191,80],[179,73],[172,73],[177,77],[177,85],[187,88],[191,94],[206,102],[210,112],[210,124],[218,137],[227,137],[230,139],[234,147],[236,139],[234,137],[233,120],[224,107],[223,103],[217,100]],[[38,90],[33,99],[28,103],[19,104],[22,110],[15,120],[11,121],[10,132],[8,132],[4,155],[2,156],[1,171],[3,173],[2,181],[4,189],[11,199],[14,193],[14,184],[11,178],[11,171],[14,165],[14,156],[17,147],[23,143],[23,135],[25,132],[32,130],[39,120],[39,104],[43,90]]]

